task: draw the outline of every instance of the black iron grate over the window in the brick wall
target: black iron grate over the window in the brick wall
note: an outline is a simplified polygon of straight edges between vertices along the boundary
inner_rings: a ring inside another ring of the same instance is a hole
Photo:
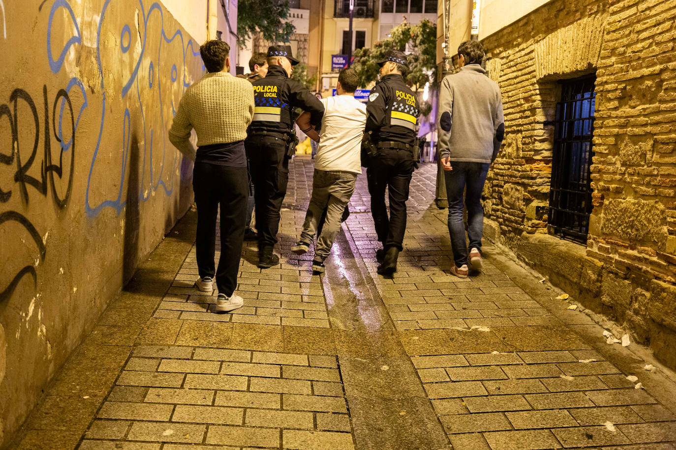
[[[561,82],[556,104],[548,226],[550,233],[586,244],[592,189],[589,185],[594,134],[596,77]]]

